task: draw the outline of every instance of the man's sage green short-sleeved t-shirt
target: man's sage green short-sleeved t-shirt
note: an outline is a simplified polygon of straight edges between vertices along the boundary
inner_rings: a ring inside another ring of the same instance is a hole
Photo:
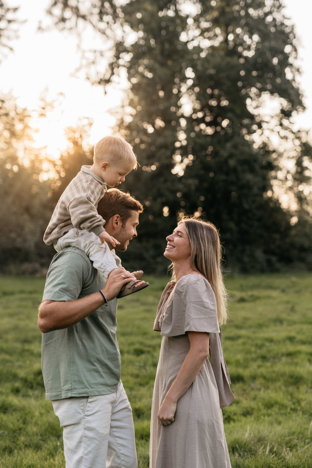
[[[43,300],[77,300],[105,285],[87,255],[69,247],[54,256]],[[107,395],[120,380],[116,339],[117,299],[109,301],[71,327],[43,333],[42,373],[47,400]]]

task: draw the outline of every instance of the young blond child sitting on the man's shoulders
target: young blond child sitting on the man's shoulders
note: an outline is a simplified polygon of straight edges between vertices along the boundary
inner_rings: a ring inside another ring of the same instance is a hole
[[[57,252],[66,247],[78,247],[104,278],[115,268],[121,268],[120,259],[106,243],[109,241],[116,247],[120,242],[105,231],[105,220],[96,208],[105,196],[107,185],[119,185],[136,168],[137,158],[129,143],[117,136],[102,138],[94,147],[93,165],[82,166],[58,200],[44,233],[44,242],[53,244]],[[143,271],[132,274],[137,279],[123,286],[118,298],[148,286],[148,283],[135,286]]]

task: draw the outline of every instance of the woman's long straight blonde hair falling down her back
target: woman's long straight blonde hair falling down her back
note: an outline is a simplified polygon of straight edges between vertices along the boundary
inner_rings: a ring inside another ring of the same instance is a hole
[[[178,225],[181,223],[191,244],[191,268],[209,281],[216,297],[218,321],[222,325],[227,320],[228,294],[221,271],[222,250],[218,230],[209,221],[194,216],[184,216]]]

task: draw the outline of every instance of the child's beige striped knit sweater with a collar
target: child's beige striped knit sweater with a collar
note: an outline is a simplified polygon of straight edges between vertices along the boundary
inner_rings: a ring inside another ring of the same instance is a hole
[[[90,168],[91,166],[82,166],[62,193],[44,233],[46,244],[53,244],[73,227],[92,231],[96,235],[105,231],[105,220],[96,208],[106,193],[106,182]]]

